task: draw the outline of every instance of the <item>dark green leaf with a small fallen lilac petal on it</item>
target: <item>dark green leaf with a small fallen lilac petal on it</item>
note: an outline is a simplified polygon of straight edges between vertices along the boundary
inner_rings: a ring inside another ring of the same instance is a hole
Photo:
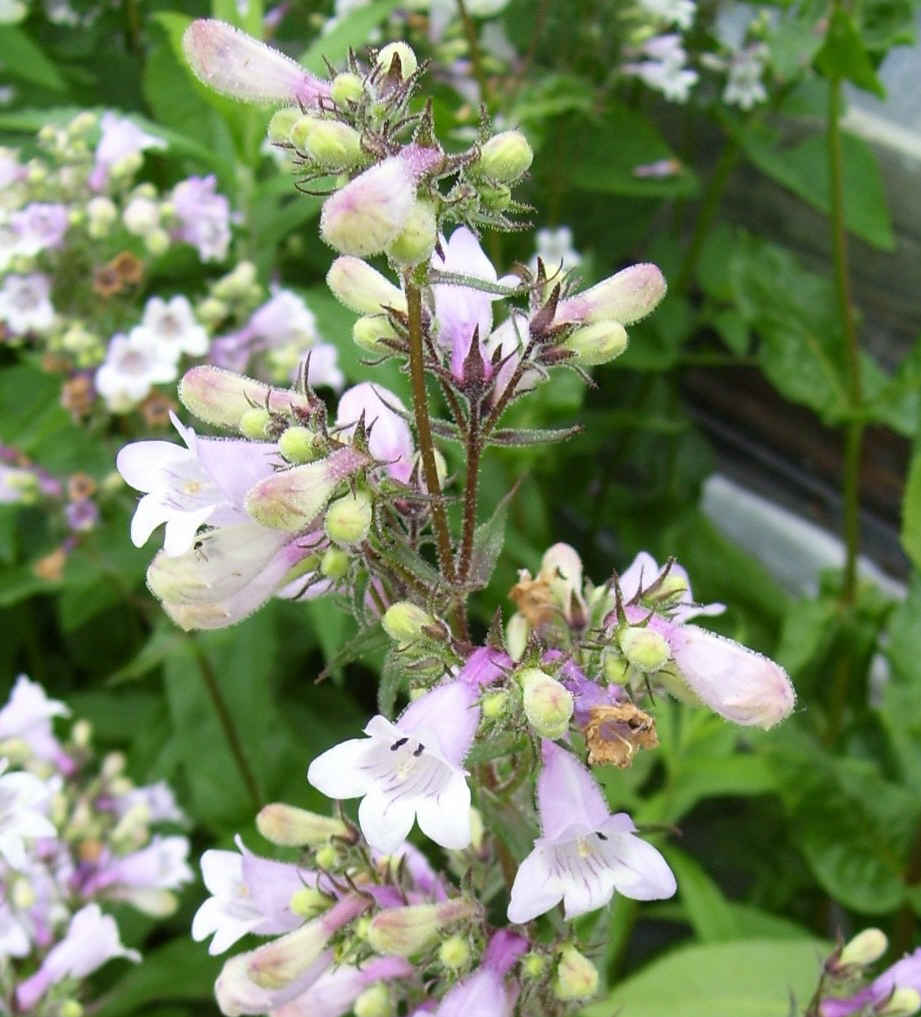
[[[659,129],[641,113],[615,105],[603,118],[573,120],[566,128],[567,184],[581,190],[636,197],[691,196],[698,189]],[[667,177],[637,177],[637,166],[674,161]]]

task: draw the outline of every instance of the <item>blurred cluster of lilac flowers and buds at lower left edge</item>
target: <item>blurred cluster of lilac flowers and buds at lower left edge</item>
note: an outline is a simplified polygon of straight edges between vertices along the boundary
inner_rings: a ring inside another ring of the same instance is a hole
[[[91,730],[20,675],[0,709],[0,1006],[79,1017],[84,980],[115,957],[139,961],[101,905],[127,902],[163,917],[191,881],[184,822],[165,783],[137,787],[117,753],[96,758]]]

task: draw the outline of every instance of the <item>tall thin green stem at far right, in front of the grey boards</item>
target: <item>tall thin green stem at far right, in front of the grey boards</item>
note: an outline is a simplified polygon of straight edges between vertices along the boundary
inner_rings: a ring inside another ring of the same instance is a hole
[[[851,301],[851,283],[848,273],[848,234],[844,213],[844,157],[841,148],[841,78],[828,81],[828,182],[832,197],[832,253],[835,261],[835,295],[841,331],[845,339],[848,375],[848,394],[851,399],[851,421],[845,435],[844,464],[844,537],[846,547],[844,582],[841,601],[854,603],[857,594],[857,555],[860,551],[860,454],[863,441],[863,422],[860,410],[863,385],[860,376],[860,344],[854,321]]]

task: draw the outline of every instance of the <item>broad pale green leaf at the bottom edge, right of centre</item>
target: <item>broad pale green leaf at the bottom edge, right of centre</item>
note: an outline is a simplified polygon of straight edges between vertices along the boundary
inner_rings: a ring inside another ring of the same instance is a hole
[[[621,982],[584,1017],[785,1017],[805,1006],[830,947],[748,940],[683,947]]]

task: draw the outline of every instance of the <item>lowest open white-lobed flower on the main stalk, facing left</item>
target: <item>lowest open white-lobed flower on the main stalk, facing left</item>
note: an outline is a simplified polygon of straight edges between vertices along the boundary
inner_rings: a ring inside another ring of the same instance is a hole
[[[291,899],[304,887],[316,888],[319,879],[287,861],[253,854],[239,835],[235,839],[239,853],[212,849],[201,855],[201,875],[211,896],[195,912],[192,939],[212,936],[211,955],[224,953],[248,933],[274,936],[302,925]]]

